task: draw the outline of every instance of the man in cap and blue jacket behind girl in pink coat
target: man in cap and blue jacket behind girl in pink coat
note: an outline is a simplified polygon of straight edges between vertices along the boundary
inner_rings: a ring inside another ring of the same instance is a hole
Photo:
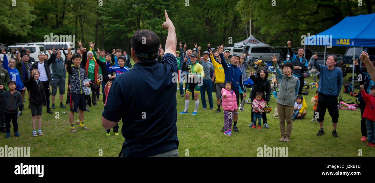
[[[243,97],[246,98],[246,89],[245,89],[245,86],[243,85],[243,73],[242,73],[242,70],[237,67],[237,64],[240,62],[240,56],[238,54],[234,54],[232,58],[230,59],[231,64],[226,64],[226,62],[223,62],[225,58],[222,52],[223,52],[223,45],[221,45],[219,48],[219,55],[222,60],[221,64],[223,65],[224,72],[225,72],[225,82],[231,81],[233,83],[233,91],[236,93],[237,105],[238,105],[240,101],[240,88],[243,91]],[[233,131],[236,131],[236,132],[238,131],[237,119],[238,119],[238,110],[236,109],[233,115]],[[224,127],[222,131],[224,131]]]

